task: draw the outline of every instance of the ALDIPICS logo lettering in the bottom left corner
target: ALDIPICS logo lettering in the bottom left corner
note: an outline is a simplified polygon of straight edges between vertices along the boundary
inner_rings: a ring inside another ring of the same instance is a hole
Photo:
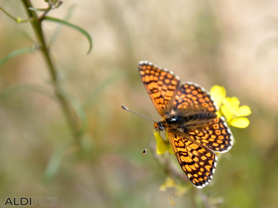
[[[8,197],[4,206],[25,206],[25,205],[40,205],[40,206],[56,206],[57,205],[56,197]]]

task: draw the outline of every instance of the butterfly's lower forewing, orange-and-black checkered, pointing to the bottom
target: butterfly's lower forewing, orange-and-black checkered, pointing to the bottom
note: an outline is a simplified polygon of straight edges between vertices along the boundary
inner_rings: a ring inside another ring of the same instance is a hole
[[[168,129],[168,137],[175,156],[189,181],[197,188],[208,185],[215,171],[216,154],[175,129]]]

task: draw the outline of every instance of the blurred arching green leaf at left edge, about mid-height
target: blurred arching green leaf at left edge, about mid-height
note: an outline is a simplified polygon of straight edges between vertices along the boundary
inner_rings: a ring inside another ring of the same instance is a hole
[[[37,91],[40,93],[43,93],[47,95],[48,97],[53,99],[53,96],[50,91],[48,91],[46,88],[43,86],[35,85],[35,84],[28,84],[28,83],[23,83],[23,84],[18,84],[15,86],[11,86],[6,88],[0,93],[0,100],[3,101],[4,99],[7,99],[8,97],[14,95],[17,92],[20,91]]]

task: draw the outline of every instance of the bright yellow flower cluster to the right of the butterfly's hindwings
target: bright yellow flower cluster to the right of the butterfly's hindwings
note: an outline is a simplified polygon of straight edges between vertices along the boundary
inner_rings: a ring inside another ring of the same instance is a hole
[[[242,105],[239,107],[237,97],[226,97],[226,90],[223,86],[215,85],[210,90],[211,96],[218,106],[217,115],[225,116],[228,125],[237,128],[246,128],[249,125],[248,116],[251,114],[250,107]]]

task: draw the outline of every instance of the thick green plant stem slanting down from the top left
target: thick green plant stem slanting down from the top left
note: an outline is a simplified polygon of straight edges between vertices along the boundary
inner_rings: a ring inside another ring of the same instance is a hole
[[[52,79],[52,85],[56,94],[56,97],[60,103],[61,109],[63,110],[63,113],[65,115],[66,120],[68,121],[69,127],[72,131],[72,134],[76,140],[76,142],[80,142],[80,134],[78,133],[78,125],[76,123],[76,120],[74,119],[74,116],[72,114],[70,105],[67,101],[67,98],[65,97],[65,93],[63,93],[63,89],[61,88],[59,81],[58,81],[58,75],[57,70],[51,60],[50,54],[49,54],[49,48],[46,46],[45,38],[43,35],[43,31],[41,28],[41,19],[38,19],[38,16],[35,11],[28,10],[28,8],[33,7],[30,0],[21,0],[27,15],[29,18],[33,18],[31,21],[32,27],[34,29],[34,32],[36,34],[36,38],[41,44],[41,52],[43,53],[43,56],[45,58],[46,64],[48,66],[49,73],[51,75]]]

